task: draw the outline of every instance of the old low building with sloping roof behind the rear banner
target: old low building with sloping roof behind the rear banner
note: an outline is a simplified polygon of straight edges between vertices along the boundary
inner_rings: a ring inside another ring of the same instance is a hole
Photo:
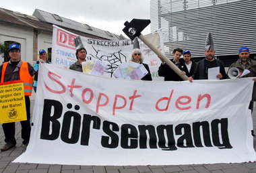
[[[86,23],[79,23],[57,14],[35,9],[33,15],[26,15],[0,7],[0,44],[7,47],[10,44],[19,44],[21,59],[33,64],[38,60],[38,51],[46,50],[51,55],[53,40],[53,25],[64,30],[99,40],[124,40],[125,38],[100,30]],[[0,64],[6,61],[0,55]]]

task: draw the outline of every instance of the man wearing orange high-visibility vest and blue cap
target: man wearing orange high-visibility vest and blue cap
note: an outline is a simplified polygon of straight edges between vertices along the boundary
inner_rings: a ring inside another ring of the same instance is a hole
[[[9,46],[9,56],[11,59],[9,62],[5,62],[0,66],[1,83],[22,80],[24,83],[24,94],[26,103],[27,120],[20,121],[22,125],[22,143],[28,146],[30,141],[30,95],[32,93],[32,76],[35,74],[33,66],[28,62],[20,60],[20,46],[18,44],[11,44]],[[15,147],[15,123],[3,123],[3,132],[5,134],[5,146],[1,148],[1,151],[7,151],[10,148]]]

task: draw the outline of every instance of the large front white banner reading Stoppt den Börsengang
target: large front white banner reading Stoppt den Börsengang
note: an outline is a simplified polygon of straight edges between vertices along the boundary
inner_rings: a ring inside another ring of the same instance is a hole
[[[254,162],[252,78],[142,81],[40,64],[30,143],[13,162]],[[67,75],[68,74],[68,75]]]

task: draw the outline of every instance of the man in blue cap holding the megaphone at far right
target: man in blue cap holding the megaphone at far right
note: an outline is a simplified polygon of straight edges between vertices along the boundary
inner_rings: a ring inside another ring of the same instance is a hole
[[[243,72],[245,69],[249,70],[249,74],[243,77],[255,77],[256,76],[256,61],[251,60],[250,58],[250,51],[247,47],[242,47],[239,49],[239,59],[230,65],[230,68],[236,67],[238,68],[239,72]],[[256,78],[255,78],[256,82]],[[256,84],[254,83],[253,86],[253,97],[251,99],[251,103],[249,105],[249,109],[253,112],[253,101],[256,101]]]

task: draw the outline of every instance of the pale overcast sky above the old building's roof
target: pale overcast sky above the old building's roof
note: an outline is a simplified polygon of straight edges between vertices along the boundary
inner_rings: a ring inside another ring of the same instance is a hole
[[[41,9],[123,36],[125,21],[150,19],[150,0],[12,0],[1,3],[0,7],[27,15]],[[142,34],[149,33],[150,25]]]

